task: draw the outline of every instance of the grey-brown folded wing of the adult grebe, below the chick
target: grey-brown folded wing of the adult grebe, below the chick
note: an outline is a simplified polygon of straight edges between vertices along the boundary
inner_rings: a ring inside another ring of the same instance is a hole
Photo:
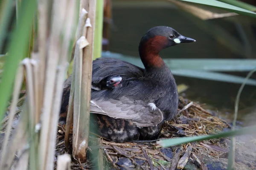
[[[131,101],[126,97],[119,100],[91,100],[90,112],[134,122],[139,127],[157,125],[163,120],[163,113],[154,104],[142,100]]]

